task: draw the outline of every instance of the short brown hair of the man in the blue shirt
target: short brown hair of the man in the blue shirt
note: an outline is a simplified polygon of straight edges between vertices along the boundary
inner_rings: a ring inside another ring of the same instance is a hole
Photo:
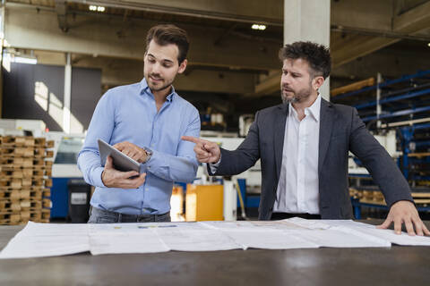
[[[159,46],[175,44],[179,50],[177,62],[179,64],[184,62],[186,54],[188,53],[188,48],[190,47],[188,36],[184,29],[180,29],[171,24],[157,25],[150,28],[148,35],[146,35],[146,51],[148,51],[152,39]]]

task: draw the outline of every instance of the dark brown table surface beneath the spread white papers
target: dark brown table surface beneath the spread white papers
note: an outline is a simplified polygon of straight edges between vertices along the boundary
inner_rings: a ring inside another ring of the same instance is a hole
[[[22,228],[0,226],[0,248]],[[429,275],[430,247],[0,259],[0,285],[429,285]]]

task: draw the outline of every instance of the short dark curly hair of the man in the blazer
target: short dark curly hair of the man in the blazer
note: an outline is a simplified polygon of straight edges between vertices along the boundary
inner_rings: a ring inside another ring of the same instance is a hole
[[[294,42],[280,49],[280,60],[303,59],[314,71],[313,76],[323,76],[324,80],[330,75],[331,55],[326,46],[313,42]]]

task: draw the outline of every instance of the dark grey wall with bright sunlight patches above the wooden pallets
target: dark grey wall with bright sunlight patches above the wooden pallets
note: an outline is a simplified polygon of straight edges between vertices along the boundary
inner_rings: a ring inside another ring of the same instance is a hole
[[[52,131],[63,130],[64,67],[11,63],[4,70],[3,118],[39,119]],[[88,128],[101,96],[101,71],[72,70],[72,132]]]

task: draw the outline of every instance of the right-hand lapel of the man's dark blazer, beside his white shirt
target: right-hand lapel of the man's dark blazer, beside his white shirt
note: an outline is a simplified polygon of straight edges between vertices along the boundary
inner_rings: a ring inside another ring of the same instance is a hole
[[[320,115],[320,145],[318,150],[318,173],[323,168],[324,158],[330,144],[331,130],[334,122],[334,109],[330,102],[322,98]]]

